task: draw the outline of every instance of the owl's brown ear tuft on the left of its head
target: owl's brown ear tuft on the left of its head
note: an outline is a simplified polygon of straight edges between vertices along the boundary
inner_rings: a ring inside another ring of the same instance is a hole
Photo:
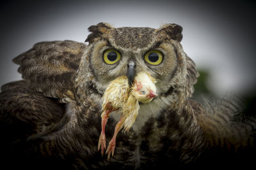
[[[88,28],[88,31],[92,32],[91,34],[88,35],[86,38],[85,42],[92,43],[95,38],[104,38],[108,35],[109,31],[111,31],[113,27],[111,25],[100,22],[97,25],[92,25]]]

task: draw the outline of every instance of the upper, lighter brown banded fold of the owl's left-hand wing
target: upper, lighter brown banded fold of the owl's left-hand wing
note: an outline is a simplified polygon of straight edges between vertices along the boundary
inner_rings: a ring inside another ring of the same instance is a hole
[[[47,97],[67,102],[74,98],[72,78],[79,67],[86,44],[76,41],[45,41],[36,43],[13,62],[31,88]]]

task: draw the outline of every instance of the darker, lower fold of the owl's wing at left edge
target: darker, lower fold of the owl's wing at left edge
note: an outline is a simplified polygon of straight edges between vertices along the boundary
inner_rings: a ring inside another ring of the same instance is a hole
[[[26,80],[3,85],[1,90],[0,143],[38,138],[57,131],[68,121],[65,104],[31,89]]]

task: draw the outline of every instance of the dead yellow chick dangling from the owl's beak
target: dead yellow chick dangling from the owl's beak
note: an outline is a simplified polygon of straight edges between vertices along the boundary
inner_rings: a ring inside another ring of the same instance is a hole
[[[109,114],[112,111],[117,111],[121,108],[121,117],[115,126],[115,132],[111,141],[109,141],[106,154],[108,153],[108,160],[112,153],[115,152],[116,136],[121,128],[124,127],[124,131],[128,131],[140,109],[141,103],[149,103],[152,101],[156,94],[156,80],[145,72],[140,72],[134,78],[134,85],[129,87],[129,83],[126,76],[120,76],[111,81],[104,93],[104,101],[102,104],[102,131],[100,133],[98,150],[101,148],[101,154],[103,155],[104,149],[106,149],[106,136],[105,127],[108,122]]]

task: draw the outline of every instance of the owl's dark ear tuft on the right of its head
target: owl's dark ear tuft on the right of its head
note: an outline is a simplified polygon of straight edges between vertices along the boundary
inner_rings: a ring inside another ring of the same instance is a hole
[[[166,34],[170,39],[181,41],[182,40],[182,27],[177,24],[164,24],[159,29],[156,29],[159,34]]]

